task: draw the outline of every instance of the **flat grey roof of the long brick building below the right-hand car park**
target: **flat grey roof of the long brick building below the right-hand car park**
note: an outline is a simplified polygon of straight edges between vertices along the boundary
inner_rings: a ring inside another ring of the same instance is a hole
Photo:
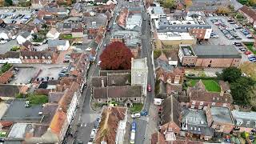
[[[197,45],[193,49],[198,58],[242,58],[232,45]]]

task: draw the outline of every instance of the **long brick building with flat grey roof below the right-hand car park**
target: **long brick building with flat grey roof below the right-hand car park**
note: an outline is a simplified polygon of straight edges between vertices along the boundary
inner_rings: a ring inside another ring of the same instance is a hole
[[[230,67],[239,66],[242,56],[232,45],[181,45],[178,58],[182,66]]]

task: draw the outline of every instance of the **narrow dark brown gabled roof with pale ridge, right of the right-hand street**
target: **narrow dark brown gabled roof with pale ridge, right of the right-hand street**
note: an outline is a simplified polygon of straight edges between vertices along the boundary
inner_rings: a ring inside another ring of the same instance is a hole
[[[172,95],[167,97],[162,102],[162,125],[167,122],[174,122],[177,126],[180,126],[179,114],[180,108],[178,100]]]

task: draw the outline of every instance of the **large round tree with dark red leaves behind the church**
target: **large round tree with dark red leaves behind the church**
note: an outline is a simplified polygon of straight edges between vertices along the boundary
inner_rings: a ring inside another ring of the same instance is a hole
[[[100,55],[102,70],[130,70],[130,61],[134,57],[123,42],[112,42]]]

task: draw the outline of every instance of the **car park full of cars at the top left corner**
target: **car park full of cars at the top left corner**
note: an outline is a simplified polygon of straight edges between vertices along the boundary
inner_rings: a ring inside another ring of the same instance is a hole
[[[7,24],[24,24],[34,14],[34,10],[29,9],[3,9],[0,10],[0,18]]]

